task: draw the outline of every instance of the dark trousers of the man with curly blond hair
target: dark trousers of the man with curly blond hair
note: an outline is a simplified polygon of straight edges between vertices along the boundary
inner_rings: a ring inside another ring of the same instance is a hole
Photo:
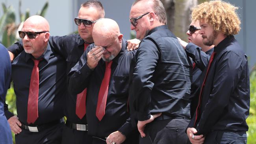
[[[246,144],[245,131],[212,131],[204,139],[204,144]]]

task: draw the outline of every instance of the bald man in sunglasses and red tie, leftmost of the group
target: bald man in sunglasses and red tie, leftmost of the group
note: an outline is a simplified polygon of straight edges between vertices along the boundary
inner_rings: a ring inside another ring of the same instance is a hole
[[[16,144],[61,143],[66,63],[48,43],[50,27],[41,16],[29,17],[19,31],[24,45],[12,63],[17,116],[6,117]]]

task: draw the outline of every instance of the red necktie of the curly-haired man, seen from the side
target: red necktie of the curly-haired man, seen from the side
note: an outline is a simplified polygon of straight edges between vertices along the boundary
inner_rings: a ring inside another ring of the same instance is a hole
[[[196,118],[195,118],[194,126],[195,126],[195,124],[196,124],[196,122],[197,122],[198,114],[199,114],[199,111],[200,111],[200,105],[201,105],[201,100],[202,100],[202,91],[203,91],[203,89],[204,89],[204,84],[205,84],[205,81],[206,81],[206,78],[207,78],[207,75],[208,75],[208,72],[209,72],[209,70],[210,70],[211,63],[212,63],[212,61],[213,61],[213,58],[214,58],[215,54],[216,54],[216,52],[213,52],[213,53],[211,54],[211,58],[210,58],[210,61],[209,61],[209,63],[208,63],[208,68],[207,68],[207,71],[206,71],[206,75],[205,75],[204,81],[203,81],[203,83],[202,83],[202,88],[201,88],[201,90],[200,90],[200,95],[199,95],[199,100],[198,100],[198,105],[197,105],[197,110],[196,110]]]

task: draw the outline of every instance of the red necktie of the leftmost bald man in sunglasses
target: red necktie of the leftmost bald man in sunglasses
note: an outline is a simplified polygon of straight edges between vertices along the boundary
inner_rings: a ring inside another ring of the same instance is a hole
[[[41,61],[33,59],[34,68],[31,73],[29,94],[28,94],[28,124],[34,123],[38,118],[38,92],[39,92],[39,62]]]

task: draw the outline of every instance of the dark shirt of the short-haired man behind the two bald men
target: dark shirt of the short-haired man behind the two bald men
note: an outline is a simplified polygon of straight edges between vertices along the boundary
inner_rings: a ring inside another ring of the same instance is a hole
[[[78,34],[63,37],[50,36],[49,44],[58,54],[66,59],[67,74],[70,69],[76,65],[84,51],[84,41]],[[16,42],[13,46],[9,47],[8,50],[15,55],[20,54],[23,50],[22,41]],[[81,120],[76,115],[76,94],[72,95],[70,92],[67,94],[65,101],[65,116],[67,116],[67,120],[72,123],[87,124],[86,116]]]

